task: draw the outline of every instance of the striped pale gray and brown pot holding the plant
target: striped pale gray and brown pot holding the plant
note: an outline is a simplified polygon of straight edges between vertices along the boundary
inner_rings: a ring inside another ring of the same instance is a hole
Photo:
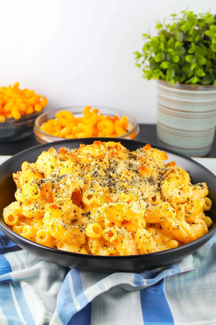
[[[209,153],[216,125],[216,86],[158,80],[157,138],[168,149],[190,157]]]

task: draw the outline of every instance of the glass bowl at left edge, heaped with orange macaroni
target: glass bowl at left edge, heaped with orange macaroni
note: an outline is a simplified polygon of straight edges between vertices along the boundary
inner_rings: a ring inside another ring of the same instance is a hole
[[[33,112],[21,115],[19,120],[6,118],[4,123],[0,123],[0,142],[20,140],[32,134],[35,119],[40,114]]]

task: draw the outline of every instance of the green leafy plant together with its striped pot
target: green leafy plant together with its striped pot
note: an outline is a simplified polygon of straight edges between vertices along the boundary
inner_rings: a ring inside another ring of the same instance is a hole
[[[157,21],[157,36],[142,34],[136,66],[157,80],[157,137],[189,156],[208,154],[216,125],[216,16],[181,11]]]

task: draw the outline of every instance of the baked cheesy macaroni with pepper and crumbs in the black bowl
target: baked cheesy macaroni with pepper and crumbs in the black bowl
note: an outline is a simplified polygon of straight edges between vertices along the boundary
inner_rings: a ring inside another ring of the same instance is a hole
[[[59,117],[64,124],[70,118]],[[145,254],[189,243],[212,223],[208,187],[191,184],[167,159],[150,145],[130,152],[111,141],[50,148],[13,174],[17,201],[4,209],[5,223],[28,240],[82,254]]]

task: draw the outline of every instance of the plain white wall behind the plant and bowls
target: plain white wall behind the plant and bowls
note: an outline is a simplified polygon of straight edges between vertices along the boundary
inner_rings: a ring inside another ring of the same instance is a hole
[[[0,85],[46,95],[49,108],[103,105],[156,122],[156,82],[134,66],[142,33],[188,6],[215,0],[0,0]]]

